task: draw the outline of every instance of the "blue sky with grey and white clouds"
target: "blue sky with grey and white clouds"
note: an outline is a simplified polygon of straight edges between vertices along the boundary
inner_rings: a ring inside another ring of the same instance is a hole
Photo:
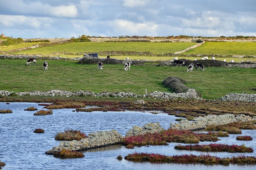
[[[14,38],[256,36],[256,0],[0,0]]]

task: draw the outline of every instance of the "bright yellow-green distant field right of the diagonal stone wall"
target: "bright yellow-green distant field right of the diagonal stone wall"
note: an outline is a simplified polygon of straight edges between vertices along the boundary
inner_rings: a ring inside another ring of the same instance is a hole
[[[183,54],[254,55],[256,42],[206,42]]]

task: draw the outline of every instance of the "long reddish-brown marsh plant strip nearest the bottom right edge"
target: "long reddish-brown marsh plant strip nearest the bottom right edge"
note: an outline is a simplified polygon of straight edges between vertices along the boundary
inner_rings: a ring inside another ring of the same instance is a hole
[[[193,154],[166,156],[155,153],[133,153],[124,157],[126,160],[134,162],[152,162],[152,163],[178,163],[178,164],[256,164],[254,156],[238,156],[231,158],[219,158],[209,154],[196,156]]]

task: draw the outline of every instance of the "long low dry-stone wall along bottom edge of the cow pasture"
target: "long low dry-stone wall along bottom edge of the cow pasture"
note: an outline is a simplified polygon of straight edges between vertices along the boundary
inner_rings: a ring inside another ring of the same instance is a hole
[[[168,93],[168,92],[152,92],[148,95],[138,95],[134,94],[131,92],[118,92],[118,93],[112,93],[112,92],[101,92],[95,94],[94,92],[84,92],[82,90],[78,92],[69,92],[66,90],[51,90],[48,92],[40,92],[40,91],[33,91],[33,92],[8,92],[1,90],[0,95],[2,96],[9,96],[12,94],[16,94],[18,96],[66,96],[66,97],[71,97],[71,96],[90,96],[90,97],[114,97],[114,98],[160,98],[160,99],[173,99],[173,98],[183,98],[183,99],[191,99],[191,98],[196,98],[199,99],[196,93],[196,90],[194,89],[188,89],[186,93]]]

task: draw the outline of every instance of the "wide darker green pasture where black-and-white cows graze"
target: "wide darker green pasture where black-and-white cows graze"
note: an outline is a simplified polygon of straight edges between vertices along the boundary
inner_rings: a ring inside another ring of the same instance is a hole
[[[96,64],[76,64],[75,61],[48,61],[49,70],[43,70],[44,61],[26,65],[26,60],[0,60],[0,90],[30,92],[34,90],[67,90],[92,92],[133,92],[145,94],[170,92],[162,86],[168,76],[186,80],[186,86],[198,90],[206,99],[218,99],[229,93],[255,94],[255,68],[206,68],[204,71],[186,72],[186,67],[131,66],[105,64],[98,70]]]

